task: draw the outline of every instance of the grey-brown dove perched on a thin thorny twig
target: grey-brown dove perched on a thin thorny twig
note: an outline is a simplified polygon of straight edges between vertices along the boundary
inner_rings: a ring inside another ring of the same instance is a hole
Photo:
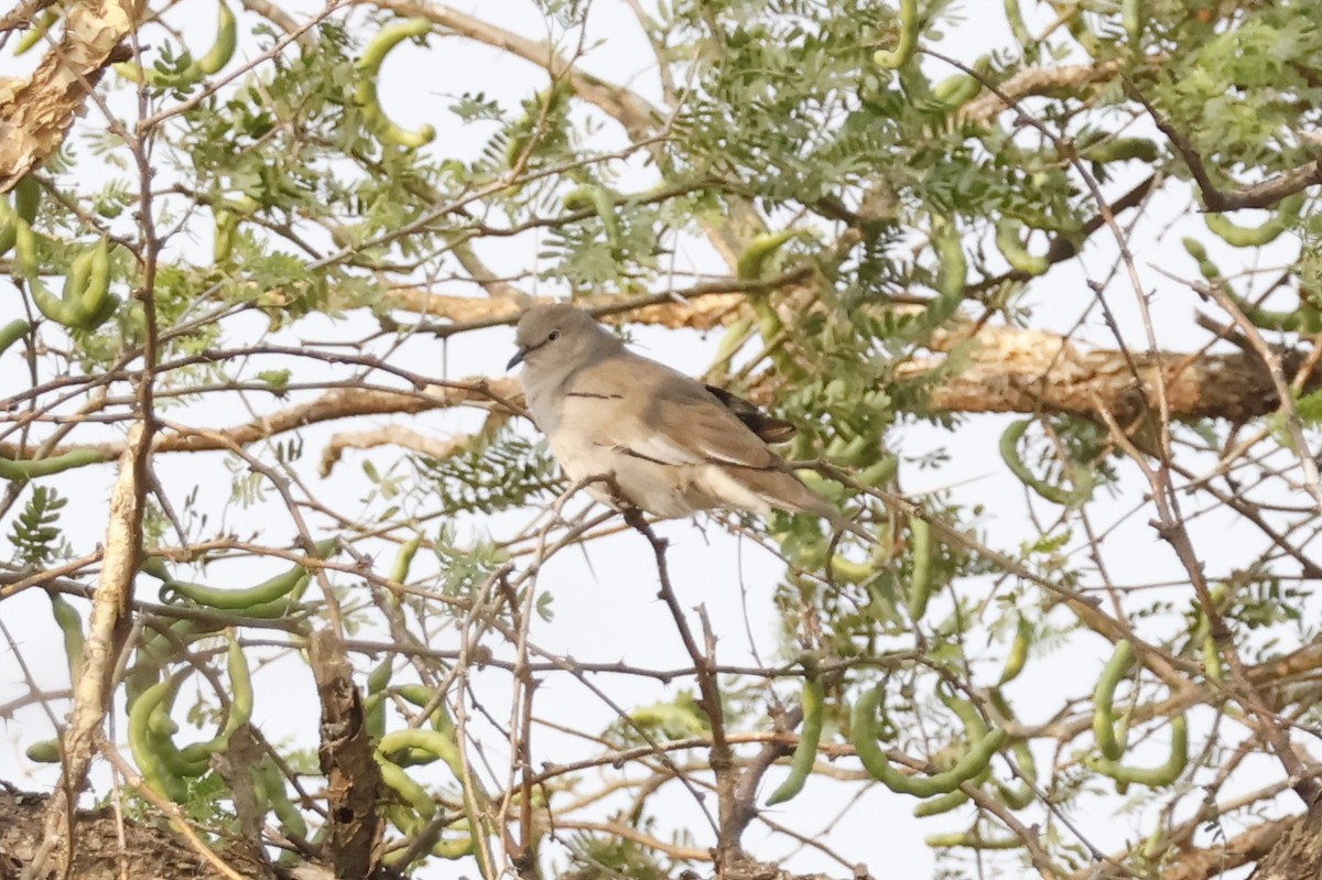
[[[518,321],[524,392],[570,480],[608,477],[588,494],[657,517],[717,507],[810,513],[871,535],[805,486],[767,447],[793,433],[726,391],[624,348],[587,312],[537,305]]]

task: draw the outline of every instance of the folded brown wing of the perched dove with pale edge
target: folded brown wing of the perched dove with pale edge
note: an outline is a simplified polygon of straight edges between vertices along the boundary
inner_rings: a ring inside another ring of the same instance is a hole
[[[654,361],[612,358],[567,390],[566,416],[592,443],[660,464],[779,469],[779,457],[702,385]]]

